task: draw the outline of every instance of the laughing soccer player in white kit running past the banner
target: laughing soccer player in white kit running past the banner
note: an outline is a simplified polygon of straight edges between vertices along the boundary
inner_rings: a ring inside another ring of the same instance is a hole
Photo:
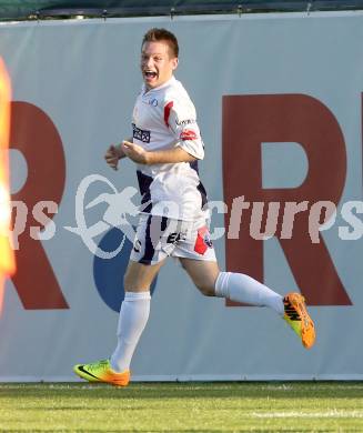
[[[301,294],[282,298],[248,275],[219,270],[198,173],[204,145],[194,105],[173,75],[178,54],[178,40],[170,31],[151,29],[144,34],[143,87],[133,109],[132,138],[105,153],[112,169],[123,158],[135,163],[142,211],[124,275],[118,345],[108,360],[74,366],[90,382],[128,385],[132,354],[149,318],[150,285],[168,256],[180,260],[204,295],[269,306],[286,320],[305,348],[314,344],[314,324]]]

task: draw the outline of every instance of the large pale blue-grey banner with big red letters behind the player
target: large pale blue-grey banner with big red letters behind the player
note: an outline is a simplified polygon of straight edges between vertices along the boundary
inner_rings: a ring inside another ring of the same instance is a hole
[[[151,27],[179,38],[177,78],[205,142],[201,178],[210,200],[228,207],[213,211],[214,234],[229,229],[238,197],[280,203],[269,239],[259,236],[258,204],[239,216],[234,238],[218,236],[221,269],[281,294],[302,291],[317,340],[305,351],[272,311],[203,298],[170,261],[152,288],[134,380],[362,379],[357,12],[1,24],[19,249],[0,319],[0,380],[75,380],[73,364],[113,351],[139,198],[132,163],[113,172],[103,154],[130,137],[140,43]],[[284,224],[286,212],[295,216]]]

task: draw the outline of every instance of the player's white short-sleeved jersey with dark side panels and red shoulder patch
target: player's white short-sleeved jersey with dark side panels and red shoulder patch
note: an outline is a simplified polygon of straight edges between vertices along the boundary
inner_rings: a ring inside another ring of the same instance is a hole
[[[201,160],[204,145],[195,108],[180,81],[172,77],[159,88],[139,94],[132,115],[133,142],[147,151],[180,147]],[[198,161],[138,164],[141,211],[192,221],[205,218],[206,194],[198,174]]]

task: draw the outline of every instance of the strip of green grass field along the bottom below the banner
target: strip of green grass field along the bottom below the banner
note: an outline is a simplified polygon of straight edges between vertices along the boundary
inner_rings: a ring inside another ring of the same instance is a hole
[[[1,432],[363,432],[363,383],[0,384]]]

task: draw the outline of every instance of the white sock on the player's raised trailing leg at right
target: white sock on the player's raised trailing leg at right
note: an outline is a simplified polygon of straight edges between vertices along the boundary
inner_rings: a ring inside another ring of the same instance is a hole
[[[266,285],[243,273],[220,272],[215,281],[215,295],[250,305],[270,306],[283,315],[283,298]]]

